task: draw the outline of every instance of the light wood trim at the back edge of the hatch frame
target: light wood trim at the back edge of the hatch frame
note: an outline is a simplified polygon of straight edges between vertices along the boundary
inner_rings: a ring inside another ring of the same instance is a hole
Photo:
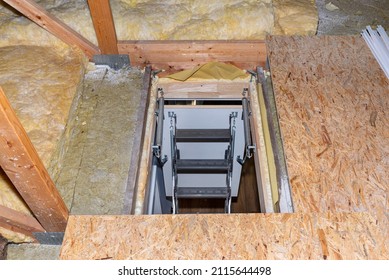
[[[196,81],[196,82],[161,82],[158,87],[163,89],[167,99],[241,99],[244,88],[249,87],[248,81]]]

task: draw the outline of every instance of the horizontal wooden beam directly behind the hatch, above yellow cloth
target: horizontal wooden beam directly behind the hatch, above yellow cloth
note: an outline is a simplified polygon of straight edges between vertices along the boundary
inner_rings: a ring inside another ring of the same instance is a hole
[[[119,41],[120,54],[128,54],[131,64],[176,72],[210,61],[231,63],[242,69],[266,64],[266,45],[250,41]]]

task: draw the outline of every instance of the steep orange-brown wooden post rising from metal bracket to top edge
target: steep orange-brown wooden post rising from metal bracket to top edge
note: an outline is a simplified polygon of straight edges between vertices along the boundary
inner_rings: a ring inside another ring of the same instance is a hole
[[[119,54],[109,0],[88,0],[97,41],[102,54]]]

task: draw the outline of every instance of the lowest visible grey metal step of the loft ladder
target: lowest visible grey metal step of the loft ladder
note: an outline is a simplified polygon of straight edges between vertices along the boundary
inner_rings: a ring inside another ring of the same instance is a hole
[[[226,187],[178,187],[178,198],[227,198]]]

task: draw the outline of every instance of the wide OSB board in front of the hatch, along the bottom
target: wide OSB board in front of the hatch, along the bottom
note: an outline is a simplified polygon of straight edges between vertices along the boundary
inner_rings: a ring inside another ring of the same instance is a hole
[[[61,259],[388,259],[369,213],[71,216]]]

